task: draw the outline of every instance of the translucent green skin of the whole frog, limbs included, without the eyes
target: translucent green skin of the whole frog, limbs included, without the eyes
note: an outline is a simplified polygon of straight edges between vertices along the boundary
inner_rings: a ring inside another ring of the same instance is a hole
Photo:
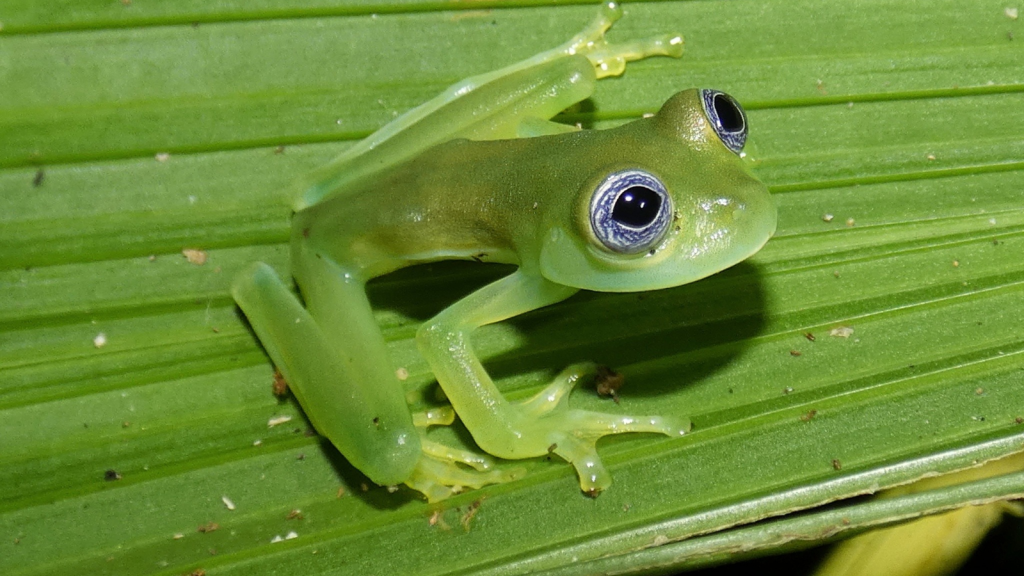
[[[537,397],[510,403],[469,344],[474,328],[579,289],[693,282],[746,258],[774,232],[767,189],[719,139],[696,90],[615,129],[549,121],[588,97],[599,77],[621,73],[626,60],[681,54],[678,37],[607,45],[603,32],[620,14],[605,5],[566,45],[453,86],[300,182],[292,274],[306,307],[265,264],[236,280],[236,300],[313,425],[374,482],[404,483],[438,500],[521,474],[493,470],[484,457],[426,440],[425,426],[451,423],[453,415],[414,415],[406,404],[365,285],[425,261],[519,266],[417,335],[455,412],[487,453],[553,452],[575,466],[584,491],[596,493],[610,484],[595,449],[599,438],[688,429],[685,418],[569,409],[568,393],[592,364],[572,366]],[[604,248],[590,223],[595,188],[626,168],[658,177],[675,208],[665,239],[639,255]]]

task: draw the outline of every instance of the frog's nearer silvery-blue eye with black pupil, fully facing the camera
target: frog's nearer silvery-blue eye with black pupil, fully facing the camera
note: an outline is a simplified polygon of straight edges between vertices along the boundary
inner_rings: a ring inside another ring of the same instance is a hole
[[[604,178],[590,202],[590,225],[601,244],[621,254],[638,254],[660,242],[672,221],[665,184],[643,170]]]

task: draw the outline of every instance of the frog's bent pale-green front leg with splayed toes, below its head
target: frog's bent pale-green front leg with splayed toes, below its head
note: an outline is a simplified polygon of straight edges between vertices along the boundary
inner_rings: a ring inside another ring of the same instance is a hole
[[[585,492],[596,494],[611,484],[597,455],[598,439],[630,431],[680,436],[689,428],[689,422],[568,408],[568,392],[593,371],[590,364],[570,367],[534,398],[510,403],[495,386],[469,342],[470,332],[479,326],[558,302],[574,292],[575,288],[539,275],[516,272],[426,323],[417,334],[417,343],[480,448],[502,458],[529,458],[553,452],[572,463]]]

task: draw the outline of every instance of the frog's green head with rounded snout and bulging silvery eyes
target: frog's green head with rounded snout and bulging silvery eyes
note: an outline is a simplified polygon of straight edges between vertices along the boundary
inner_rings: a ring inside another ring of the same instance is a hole
[[[543,241],[545,278],[606,292],[679,286],[774,234],[775,204],[739,157],[746,116],[731,96],[680,92],[654,117],[595,137],[602,158],[588,162],[571,222],[558,218]]]

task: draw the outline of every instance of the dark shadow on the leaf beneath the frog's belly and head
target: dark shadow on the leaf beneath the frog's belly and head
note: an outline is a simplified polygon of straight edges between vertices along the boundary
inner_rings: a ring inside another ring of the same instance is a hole
[[[510,270],[467,262],[416,266],[397,273],[402,276],[393,278],[391,287],[372,288],[371,295],[375,307],[426,321]],[[423,283],[428,286],[411,296],[409,287]],[[392,292],[397,286],[403,288]],[[495,356],[480,352],[496,380],[531,371],[554,376],[569,364],[595,361],[627,375],[625,394],[657,396],[699,382],[741,355],[764,327],[765,307],[759,269],[740,262],[665,290],[581,291],[564,302],[505,321],[519,334],[521,345]],[[709,354],[712,347],[716,349]],[[641,371],[643,375],[631,377]],[[665,372],[672,374],[655,377]]]

